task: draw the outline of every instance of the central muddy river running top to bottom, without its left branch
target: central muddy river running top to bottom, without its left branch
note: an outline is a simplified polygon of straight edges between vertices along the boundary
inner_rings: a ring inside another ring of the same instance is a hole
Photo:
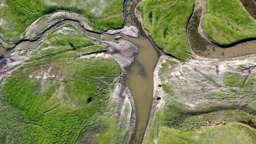
[[[126,71],[128,73],[128,86],[132,94],[136,114],[137,127],[132,138],[132,144],[141,144],[147,128],[153,102],[153,72],[159,59],[159,52],[148,40],[138,22],[134,10],[141,0],[126,0],[124,5],[125,25],[136,26],[140,35],[138,39],[130,40],[139,48],[135,62]]]

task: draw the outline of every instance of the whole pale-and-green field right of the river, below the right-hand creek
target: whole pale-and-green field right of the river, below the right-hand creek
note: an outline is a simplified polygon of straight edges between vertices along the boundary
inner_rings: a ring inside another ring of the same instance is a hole
[[[159,70],[164,105],[156,108],[146,143],[255,143],[255,131],[229,125],[256,128],[255,65],[255,59],[165,60]]]

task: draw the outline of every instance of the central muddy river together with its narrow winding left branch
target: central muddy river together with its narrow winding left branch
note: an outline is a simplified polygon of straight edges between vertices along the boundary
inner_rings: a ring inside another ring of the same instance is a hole
[[[16,48],[22,48],[27,50],[33,50],[40,46],[42,40],[47,36],[49,32],[52,32],[54,29],[58,28],[62,24],[74,24],[80,30],[85,32],[88,36],[94,37],[98,40],[106,40],[118,42],[114,38],[116,36],[123,36],[119,40],[128,40],[135,44],[139,48],[139,52],[136,56],[134,62],[128,67],[125,68],[128,76],[127,82],[128,87],[130,89],[131,95],[133,97],[136,109],[136,129],[135,134],[132,136],[132,140],[130,143],[132,144],[141,144],[144,137],[144,132],[146,130],[148,124],[148,118],[150,115],[152,101],[153,101],[153,72],[156,67],[159,52],[153,47],[150,40],[143,35],[143,30],[141,29],[139,22],[137,21],[134,15],[134,9],[136,5],[141,0],[126,0],[124,6],[124,14],[125,14],[125,25],[126,26],[136,26],[139,29],[139,37],[129,37],[123,34],[116,35],[108,35],[108,34],[98,34],[95,32],[88,32],[84,28],[80,26],[78,22],[75,20],[64,20],[52,28],[49,28],[46,32],[40,36],[38,40],[29,41],[24,40],[16,45],[13,49],[4,49],[0,44],[0,53],[10,54]]]

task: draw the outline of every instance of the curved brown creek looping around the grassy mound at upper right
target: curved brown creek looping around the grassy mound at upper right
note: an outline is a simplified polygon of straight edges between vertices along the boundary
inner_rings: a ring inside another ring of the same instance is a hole
[[[247,10],[251,10],[255,18],[256,4],[253,0],[240,0]],[[254,11],[253,11],[254,10]],[[191,25],[188,27],[188,36],[193,52],[197,55],[210,57],[210,58],[232,58],[239,56],[246,56],[256,54],[256,40],[248,40],[246,42],[236,44],[228,48],[221,48],[219,46],[213,45],[205,40],[198,32],[198,27],[200,24],[200,18],[202,14],[202,9],[197,9],[193,16],[191,17]]]

